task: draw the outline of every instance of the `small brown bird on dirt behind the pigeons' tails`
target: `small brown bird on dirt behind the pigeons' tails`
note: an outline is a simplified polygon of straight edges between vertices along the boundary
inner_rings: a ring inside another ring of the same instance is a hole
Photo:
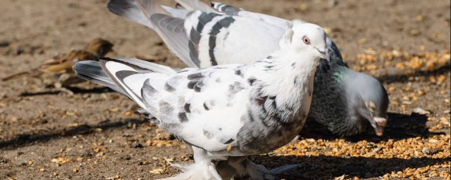
[[[54,86],[56,89],[60,89],[68,94],[73,94],[64,87],[84,81],[75,77],[72,66],[81,60],[93,60],[98,56],[104,56],[106,53],[112,51],[112,48],[113,44],[105,39],[93,39],[92,41],[89,41],[82,50],[69,51],[63,56],[46,60],[42,65],[39,65],[38,68],[8,75],[1,78],[1,81],[5,82],[21,77],[37,77],[42,79],[46,85]]]

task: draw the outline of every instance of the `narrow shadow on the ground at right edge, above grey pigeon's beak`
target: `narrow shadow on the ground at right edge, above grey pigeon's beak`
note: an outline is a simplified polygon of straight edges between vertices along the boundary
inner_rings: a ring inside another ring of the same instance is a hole
[[[443,67],[438,68],[436,70],[419,70],[413,73],[410,73],[408,75],[385,75],[381,77],[377,77],[377,79],[381,82],[385,83],[393,83],[393,82],[408,82],[409,77],[416,77],[416,76],[429,76],[429,75],[440,75],[445,74],[446,72],[450,72],[451,67],[450,63],[447,63],[446,65],[443,65]]]

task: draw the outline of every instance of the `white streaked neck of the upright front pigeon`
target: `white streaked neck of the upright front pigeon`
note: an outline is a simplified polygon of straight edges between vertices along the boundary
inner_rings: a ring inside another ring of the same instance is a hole
[[[299,113],[307,117],[313,92],[314,72],[319,58],[306,53],[278,51],[254,63],[252,73],[261,81],[262,96],[276,97],[275,104],[285,112],[283,120],[299,120]],[[302,120],[304,118],[301,118]]]

